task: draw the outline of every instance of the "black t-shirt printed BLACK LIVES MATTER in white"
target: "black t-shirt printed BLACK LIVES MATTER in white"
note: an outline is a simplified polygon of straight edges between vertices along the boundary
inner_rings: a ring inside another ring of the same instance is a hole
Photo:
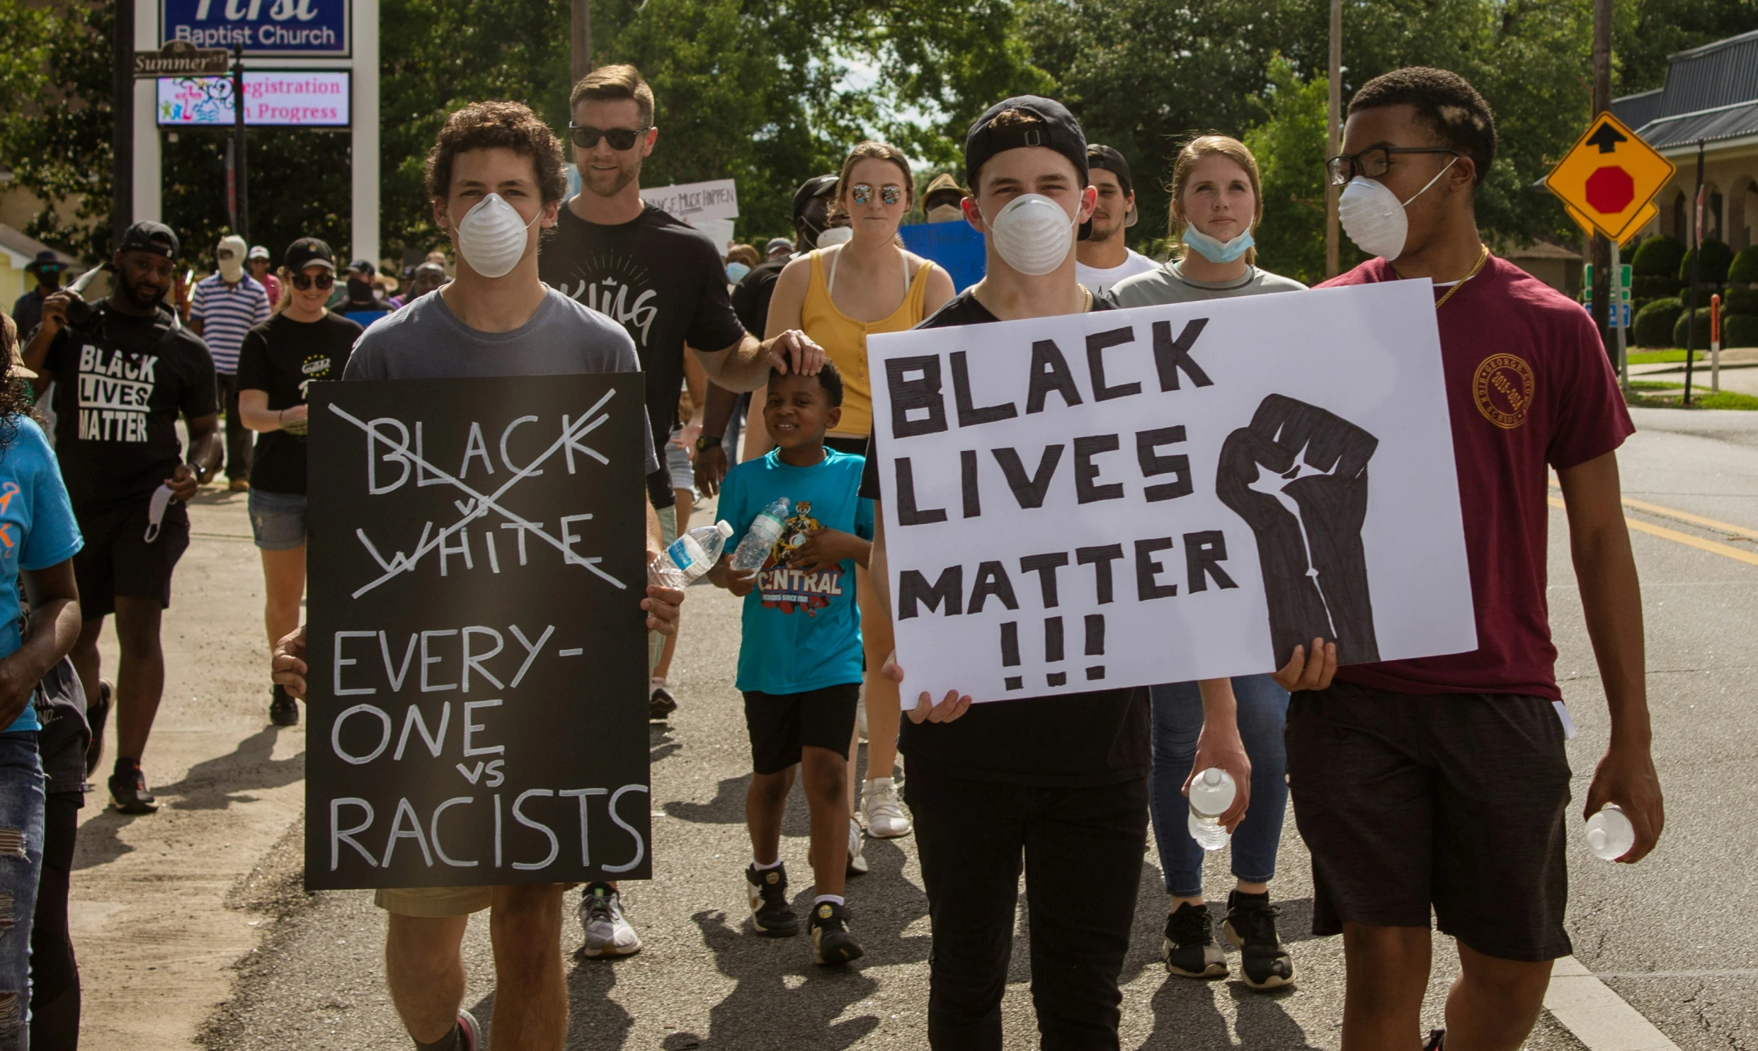
[[[42,362],[54,376],[54,455],[77,511],[149,497],[183,462],[178,413],[220,411],[200,336],[174,329],[169,309],[100,311],[95,332],[56,332]]]

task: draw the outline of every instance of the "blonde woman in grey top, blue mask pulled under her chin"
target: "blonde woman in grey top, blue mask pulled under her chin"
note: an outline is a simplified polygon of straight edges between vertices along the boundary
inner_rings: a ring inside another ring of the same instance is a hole
[[[1129,308],[1303,292],[1306,286],[1299,281],[1259,269],[1253,236],[1262,218],[1257,158],[1245,142],[1229,135],[1192,139],[1173,162],[1173,260],[1123,278],[1111,286],[1111,297]],[[1246,984],[1269,989],[1294,981],[1294,960],[1276,935],[1276,907],[1269,903],[1289,801],[1282,743],[1289,694],[1269,675],[1234,677],[1232,694],[1239,705],[1239,736],[1252,759],[1252,810],[1229,845],[1238,882],[1227,895],[1224,930],[1241,949]],[[1202,849],[1185,830],[1188,805],[1181,794],[1202,731],[1202,698],[1194,682],[1155,685],[1150,696],[1150,808],[1171,898],[1160,958],[1167,972],[1181,977],[1224,977],[1227,958],[1215,944],[1202,896]]]

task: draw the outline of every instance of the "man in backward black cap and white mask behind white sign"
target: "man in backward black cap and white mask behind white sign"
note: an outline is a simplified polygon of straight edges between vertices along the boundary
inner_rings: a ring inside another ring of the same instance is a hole
[[[988,272],[921,329],[1109,309],[1074,281],[1074,225],[1092,218],[1097,195],[1086,178],[1086,139],[1060,102],[1021,95],[990,107],[965,137],[965,174],[976,197],[963,200],[963,213],[986,236]],[[1018,228],[1009,237],[993,236],[984,216],[1007,223],[1002,207],[1028,195],[1034,211],[1060,209],[1067,223],[1044,223],[1034,237]],[[1014,251],[1021,241],[1030,241],[1028,257]],[[1027,272],[1039,269],[1032,257],[1057,253],[1057,241],[1062,264]],[[861,476],[861,496],[874,501],[881,499],[877,443],[875,424]],[[881,606],[891,608],[883,510],[875,518],[872,580]],[[895,656],[884,673],[905,682]],[[1250,761],[1239,743],[1232,684],[1211,678],[1199,685],[1204,728],[1195,768],[1220,766],[1239,786],[1232,810],[1222,815],[1231,831],[1245,815]],[[919,694],[916,708],[904,710],[904,793],[916,819],[933,924],[928,1044],[1000,1051],[1023,858],[1032,1004],[1042,1042],[1116,1047],[1116,982],[1148,842],[1148,687],[984,705],[951,691],[939,701]]]

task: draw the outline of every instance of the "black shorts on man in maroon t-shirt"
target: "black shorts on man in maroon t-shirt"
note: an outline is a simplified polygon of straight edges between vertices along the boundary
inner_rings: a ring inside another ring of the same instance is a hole
[[[1338,682],[1289,703],[1313,933],[1429,926],[1500,960],[1572,954],[1568,757],[1552,701]]]

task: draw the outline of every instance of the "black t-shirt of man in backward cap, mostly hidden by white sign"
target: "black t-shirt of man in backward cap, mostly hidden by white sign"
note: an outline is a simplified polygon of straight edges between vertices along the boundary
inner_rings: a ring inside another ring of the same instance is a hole
[[[999,322],[972,290],[955,295],[918,329]],[[1093,309],[1115,309],[1093,301]],[[868,438],[861,496],[881,499],[877,432]],[[905,668],[907,671],[907,668]],[[904,680],[904,705],[914,694]],[[1101,786],[1146,777],[1153,768],[1148,687],[1018,698],[970,705],[953,722],[904,719],[897,747],[909,768],[946,777],[1034,786]]]

